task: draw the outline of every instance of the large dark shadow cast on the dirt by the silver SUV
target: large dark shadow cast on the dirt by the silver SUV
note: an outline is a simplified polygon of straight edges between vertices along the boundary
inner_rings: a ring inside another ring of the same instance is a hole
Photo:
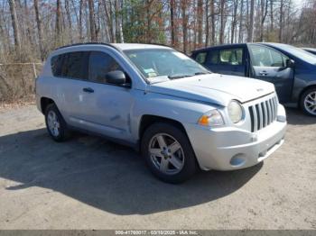
[[[46,130],[0,137],[0,177],[58,191],[116,214],[147,214],[208,203],[236,191],[262,165],[230,172],[200,172],[181,185],[155,179],[134,150],[99,138],[76,135],[51,141]]]

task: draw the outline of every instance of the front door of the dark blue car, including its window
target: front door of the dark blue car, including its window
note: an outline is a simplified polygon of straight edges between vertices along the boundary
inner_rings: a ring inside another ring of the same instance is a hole
[[[291,100],[294,70],[286,67],[289,58],[277,50],[261,45],[248,46],[252,77],[273,83],[280,102]]]

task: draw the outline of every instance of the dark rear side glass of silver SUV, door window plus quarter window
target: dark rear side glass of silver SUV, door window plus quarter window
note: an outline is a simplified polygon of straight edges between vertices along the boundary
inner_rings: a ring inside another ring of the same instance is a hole
[[[60,54],[51,59],[54,77],[88,79],[88,51],[74,51]]]

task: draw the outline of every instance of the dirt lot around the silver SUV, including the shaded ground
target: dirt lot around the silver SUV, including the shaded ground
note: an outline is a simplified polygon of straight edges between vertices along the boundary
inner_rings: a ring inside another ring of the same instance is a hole
[[[0,229],[316,229],[316,119],[287,112],[264,164],[172,186],[134,150],[51,141],[34,105],[0,110]]]

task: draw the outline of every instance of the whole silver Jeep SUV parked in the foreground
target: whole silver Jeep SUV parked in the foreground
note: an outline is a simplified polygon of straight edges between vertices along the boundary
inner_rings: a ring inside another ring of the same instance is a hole
[[[54,141],[93,132],[141,150],[163,181],[256,165],[283,144],[274,86],[210,73],[172,48],[88,43],[60,48],[36,80]]]

